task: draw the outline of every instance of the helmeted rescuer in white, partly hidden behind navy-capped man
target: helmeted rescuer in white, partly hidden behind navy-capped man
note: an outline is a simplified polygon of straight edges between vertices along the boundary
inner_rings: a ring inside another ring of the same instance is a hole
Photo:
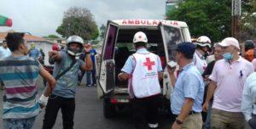
[[[206,57],[207,57],[208,51],[211,48],[211,40],[207,36],[200,36],[199,38],[196,39],[195,45],[196,45],[196,49],[195,49],[193,62],[196,68],[202,74],[204,70],[207,68]]]

